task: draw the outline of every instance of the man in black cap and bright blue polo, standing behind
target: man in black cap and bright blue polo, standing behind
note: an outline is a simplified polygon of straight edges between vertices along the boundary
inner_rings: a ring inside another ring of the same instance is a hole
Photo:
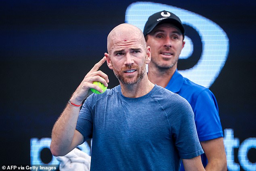
[[[148,77],[152,83],[177,93],[190,103],[198,138],[205,152],[201,160],[206,171],[226,171],[217,101],[209,89],[191,82],[177,71],[178,58],[185,45],[184,32],[180,19],[171,12],[160,11],[149,16],[143,31],[151,48]]]

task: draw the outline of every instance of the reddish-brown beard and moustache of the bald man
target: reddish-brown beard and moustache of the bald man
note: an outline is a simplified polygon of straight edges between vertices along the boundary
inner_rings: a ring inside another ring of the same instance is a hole
[[[139,74],[136,76],[136,78],[134,79],[130,79],[133,76],[128,76],[128,77],[124,77],[124,75],[122,74],[124,72],[124,70],[130,70],[130,69],[134,69],[137,70],[139,72]],[[141,68],[139,68],[137,65],[130,65],[130,66],[124,66],[121,68],[120,71],[116,70],[115,68],[113,68],[114,74],[116,76],[116,78],[118,78],[118,80],[120,81],[120,83],[122,84],[126,84],[126,85],[133,85],[136,84],[137,82],[139,82],[140,80],[142,80],[142,78],[144,78],[145,74],[146,74],[146,64],[144,63],[143,66],[141,66]]]

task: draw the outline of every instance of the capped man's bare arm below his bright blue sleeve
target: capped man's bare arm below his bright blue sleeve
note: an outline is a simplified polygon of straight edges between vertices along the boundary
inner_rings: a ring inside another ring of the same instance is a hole
[[[206,171],[227,171],[227,158],[223,138],[201,141],[200,143],[208,159]]]

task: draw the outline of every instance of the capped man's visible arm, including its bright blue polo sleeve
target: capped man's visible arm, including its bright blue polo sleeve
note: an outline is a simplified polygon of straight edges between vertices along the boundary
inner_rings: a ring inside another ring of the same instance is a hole
[[[202,91],[193,109],[197,134],[208,159],[206,171],[227,171],[222,126],[214,94],[209,89]]]

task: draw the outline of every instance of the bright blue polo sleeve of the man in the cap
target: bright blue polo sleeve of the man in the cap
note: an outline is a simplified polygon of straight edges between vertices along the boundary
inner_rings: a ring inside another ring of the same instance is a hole
[[[198,95],[194,105],[194,113],[200,141],[223,137],[218,104],[209,89],[205,89]]]

